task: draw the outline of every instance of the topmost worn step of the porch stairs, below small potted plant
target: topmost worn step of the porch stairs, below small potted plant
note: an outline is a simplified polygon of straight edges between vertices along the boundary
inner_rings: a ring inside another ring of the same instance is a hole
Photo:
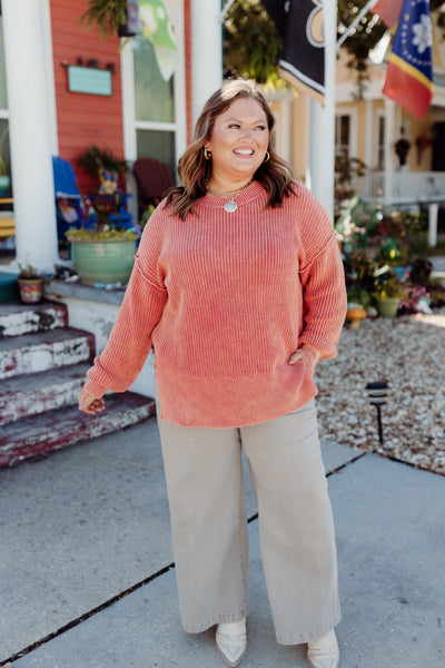
[[[0,336],[21,336],[67,326],[68,310],[65,304],[57,302],[0,304]]]

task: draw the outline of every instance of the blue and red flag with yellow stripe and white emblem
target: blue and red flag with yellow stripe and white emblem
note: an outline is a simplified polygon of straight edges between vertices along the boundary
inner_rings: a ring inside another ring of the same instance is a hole
[[[383,92],[418,118],[433,98],[432,46],[429,0],[405,0]]]

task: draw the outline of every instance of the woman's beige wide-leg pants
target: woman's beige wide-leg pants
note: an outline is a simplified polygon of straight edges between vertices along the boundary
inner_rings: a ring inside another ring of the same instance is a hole
[[[199,632],[247,616],[244,448],[277,641],[325,636],[340,613],[315,402],[240,429],[158,424],[184,629]]]

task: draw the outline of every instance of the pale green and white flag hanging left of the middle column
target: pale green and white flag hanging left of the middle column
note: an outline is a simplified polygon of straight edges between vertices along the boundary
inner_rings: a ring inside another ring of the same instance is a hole
[[[168,81],[179,62],[178,47],[162,0],[138,0],[142,31],[152,45],[159,71]]]

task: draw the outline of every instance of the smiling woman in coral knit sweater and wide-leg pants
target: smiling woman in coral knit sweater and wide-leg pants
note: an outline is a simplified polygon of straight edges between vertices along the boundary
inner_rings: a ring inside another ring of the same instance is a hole
[[[246,654],[243,446],[277,640],[307,642],[313,667],[334,668],[336,550],[313,373],[336,355],[344,274],[332,223],[274,153],[273,127],[250,82],[207,101],[80,407],[103,410],[106,389],[125,391],[154,344],[185,630],[217,625],[227,666]]]

